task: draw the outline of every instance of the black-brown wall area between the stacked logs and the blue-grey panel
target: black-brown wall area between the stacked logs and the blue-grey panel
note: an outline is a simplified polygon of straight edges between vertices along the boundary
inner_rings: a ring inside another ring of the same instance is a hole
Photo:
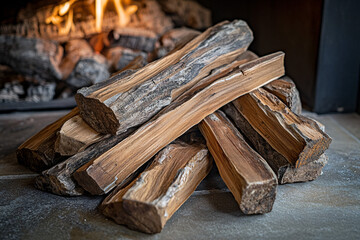
[[[243,19],[254,32],[250,49],[259,55],[285,52],[286,74],[300,90],[304,105],[314,106],[322,0],[203,0],[214,23]]]

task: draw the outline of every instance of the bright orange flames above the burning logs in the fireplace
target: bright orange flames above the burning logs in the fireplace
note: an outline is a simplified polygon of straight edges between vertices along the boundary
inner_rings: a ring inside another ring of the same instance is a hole
[[[60,34],[68,34],[74,27],[73,8],[78,0],[69,0],[54,7],[51,15],[46,18],[46,24],[60,26]],[[130,17],[137,11],[136,5],[130,5],[130,0],[95,0],[95,29],[101,32],[102,22],[107,4],[112,1],[119,18],[119,26],[124,27],[130,22]],[[126,3],[126,7],[124,7]]]

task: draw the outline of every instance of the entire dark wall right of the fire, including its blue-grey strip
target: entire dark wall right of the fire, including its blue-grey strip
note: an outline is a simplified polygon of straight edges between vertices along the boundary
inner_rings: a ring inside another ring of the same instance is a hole
[[[318,113],[360,112],[359,0],[200,0],[214,23],[243,19],[259,55],[285,52],[286,74]]]

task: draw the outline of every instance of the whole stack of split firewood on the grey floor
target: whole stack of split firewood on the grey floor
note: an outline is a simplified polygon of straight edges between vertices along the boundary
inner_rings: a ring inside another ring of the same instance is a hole
[[[110,193],[102,213],[146,233],[161,231],[212,159],[242,212],[270,212],[278,184],[320,175],[331,138],[300,115],[284,53],[257,57],[252,40],[244,21],[223,22],[82,88],[77,108],[19,147],[19,162],[44,170],[39,189]]]

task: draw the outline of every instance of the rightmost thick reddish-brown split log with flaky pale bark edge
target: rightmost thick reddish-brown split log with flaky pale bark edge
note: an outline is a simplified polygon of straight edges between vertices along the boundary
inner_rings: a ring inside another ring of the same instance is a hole
[[[243,97],[250,99],[246,102],[237,99],[224,106],[223,110],[268,162],[277,174],[278,182],[284,184],[292,181],[289,176],[284,178],[286,172],[297,175],[296,182],[315,179],[324,162],[312,162],[317,161],[328,148],[330,137],[316,122],[295,115],[284,103],[263,89]],[[305,172],[310,163],[318,169],[308,174],[296,173]]]

